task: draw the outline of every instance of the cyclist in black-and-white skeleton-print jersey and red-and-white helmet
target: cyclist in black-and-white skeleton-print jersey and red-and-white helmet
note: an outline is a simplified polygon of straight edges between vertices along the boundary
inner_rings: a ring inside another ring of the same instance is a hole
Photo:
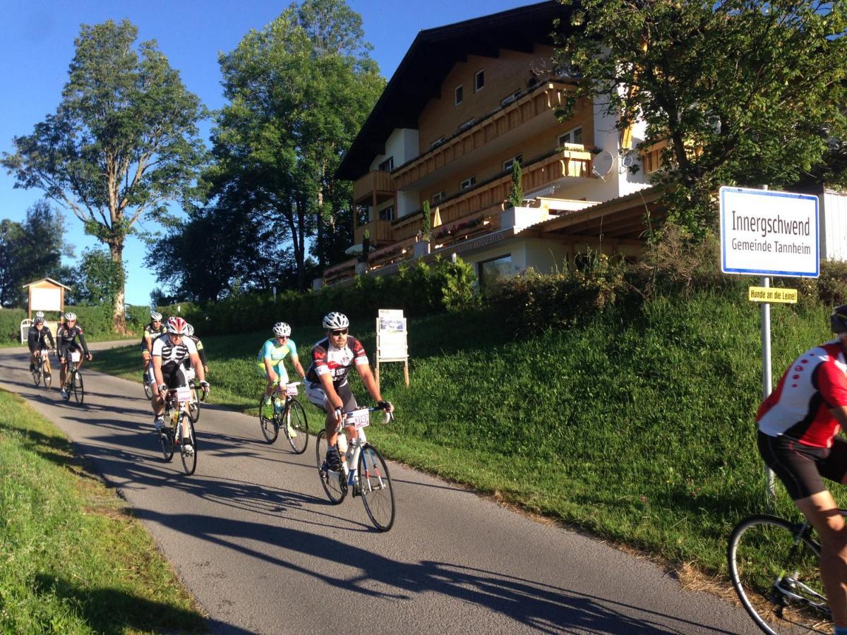
[[[185,335],[185,320],[182,317],[169,317],[167,332],[160,335],[153,341],[152,346],[152,367],[153,377],[156,379],[158,391],[150,400],[153,408],[153,414],[156,418],[153,425],[156,431],[162,429],[164,419],[162,413],[164,411],[164,398],[168,394],[168,389],[181,388],[188,385],[188,378],[185,376],[185,366],[183,362],[186,358],[191,360],[191,366],[194,367],[194,372],[200,379],[200,387],[203,392],[208,392],[209,384],[206,381],[206,373],[203,372],[200,356],[197,355],[197,346],[194,341],[184,337]],[[183,443],[186,444],[185,450],[193,451],[191,448],[191,439],[188,437],[187,429],[182,431]]]

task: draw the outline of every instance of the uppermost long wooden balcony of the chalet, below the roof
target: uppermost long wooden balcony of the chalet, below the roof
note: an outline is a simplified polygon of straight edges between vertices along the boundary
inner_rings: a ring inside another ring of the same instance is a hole
[[[394,189],[404,190],[408,185],[440,170],[447,163],[479,150],[532,119],[551,113],[564,103],[567,90],[573,90],[573,87],[558,82],[545,82],[515,102],[484,116],[468,130],[452,136],[440,146],[396,168],[391,173]]]

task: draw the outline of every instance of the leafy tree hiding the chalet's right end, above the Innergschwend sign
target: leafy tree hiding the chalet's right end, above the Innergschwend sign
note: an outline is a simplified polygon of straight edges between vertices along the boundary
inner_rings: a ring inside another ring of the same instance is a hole
[[[692,235],[717,227],[717,186],[792,185],[845,138],[840,0],[565,4],[557,62],[583,76],[569,107],[605,100],[622,132],[645,121],[636,150],[667,141],[654,182],[672,185],[671,218]]]

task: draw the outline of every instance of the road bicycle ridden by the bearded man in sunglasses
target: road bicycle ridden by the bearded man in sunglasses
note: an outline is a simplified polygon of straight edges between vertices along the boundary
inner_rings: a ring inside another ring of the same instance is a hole
[[[330,470],[326,464],[325,429],[318,433],[315,453],[320,484],[329,497],[329,501],[333,505],[339,505],[345,499],[347,492],[352,492],[353,497],[361,496],[365,511],[368,512],[374,527],[380,532],[387,532],[394,525],[394,488],[391,485],[385,459],[379,450],[368,443],[364,430],[370,424],[370,413],[377,410],[382,408],[379,406],[360,408],[345,413],[344,425],[355,426],[358,436],[349,442],[345,453],[341,456],[340,472]],[[390,412],[385,413],[386,422],[393,418]],[[346,439],[341,428],[341,426],[338,428],[338,439],[342,437]],[[340,447],[343,446],[340,445]]]

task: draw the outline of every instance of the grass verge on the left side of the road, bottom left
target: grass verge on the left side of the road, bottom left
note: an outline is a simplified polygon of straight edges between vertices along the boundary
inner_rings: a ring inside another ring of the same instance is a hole
[[[205,632],[125,502],[69,441],[0,390],[0,631]]]

